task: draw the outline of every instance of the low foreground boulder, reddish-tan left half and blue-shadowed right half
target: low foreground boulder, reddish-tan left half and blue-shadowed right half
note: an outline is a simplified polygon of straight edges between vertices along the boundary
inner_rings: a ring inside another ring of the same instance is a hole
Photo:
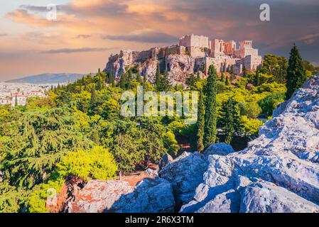
[[[70,213],[163,213],[173,212],[171,184],[165,179],[143,179],[136,187],[124,181],[91,180],[68,204]]]

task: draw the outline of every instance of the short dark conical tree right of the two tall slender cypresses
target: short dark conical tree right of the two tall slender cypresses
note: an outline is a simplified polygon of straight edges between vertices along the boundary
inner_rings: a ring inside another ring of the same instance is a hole
[[[225,133],[225,143],[230,144],[234,133],[239,132],[241,128],[239,106],[233,97],[222,105],[220,126]]]

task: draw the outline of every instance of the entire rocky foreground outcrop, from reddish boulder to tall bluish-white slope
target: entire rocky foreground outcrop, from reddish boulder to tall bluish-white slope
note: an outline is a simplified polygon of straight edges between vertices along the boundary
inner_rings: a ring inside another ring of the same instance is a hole
[[[70,212],[319,212],[319,75],[274,111],[259,138],[235,153],[166,155],[135,187],[91,181]]]

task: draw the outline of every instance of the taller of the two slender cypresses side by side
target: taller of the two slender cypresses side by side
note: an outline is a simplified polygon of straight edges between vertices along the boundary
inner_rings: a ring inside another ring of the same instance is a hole
[[[215,143],[217,135],[217,72],[214,65],[210,65],[206,85],[204,145]]]

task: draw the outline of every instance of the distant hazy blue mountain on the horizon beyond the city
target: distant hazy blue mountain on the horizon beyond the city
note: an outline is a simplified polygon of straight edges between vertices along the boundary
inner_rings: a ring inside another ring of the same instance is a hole
[[[30,84],[58,84],[75,82],[77,79],[82,78],[86,74],[77,73],[58,73],[58,74],[38,74],[28,77],[23,77],[19,79],[11,79],[6,82],[9,83],[30,83]]]

